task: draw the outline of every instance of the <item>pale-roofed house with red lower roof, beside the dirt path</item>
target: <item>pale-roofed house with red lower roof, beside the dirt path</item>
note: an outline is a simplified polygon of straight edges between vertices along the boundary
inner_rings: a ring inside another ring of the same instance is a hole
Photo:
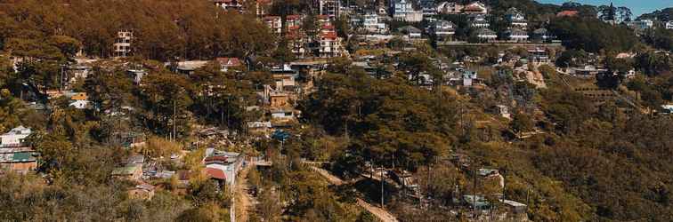
[[[243,155],[213,148],[208,148],[206,153],[207,157],[203,160],[206,164],[206,174],[220,182],[220,185],[234,185],[236,174],[243,165]]]

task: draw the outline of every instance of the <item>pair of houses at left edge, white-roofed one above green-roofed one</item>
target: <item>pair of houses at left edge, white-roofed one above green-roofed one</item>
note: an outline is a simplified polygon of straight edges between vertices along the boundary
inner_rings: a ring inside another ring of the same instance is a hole
[[[29,128],[18,126],[0,135],[0,175],[8,172],[26,174],[37,169],[39,153],[26,143],[31,133]]]

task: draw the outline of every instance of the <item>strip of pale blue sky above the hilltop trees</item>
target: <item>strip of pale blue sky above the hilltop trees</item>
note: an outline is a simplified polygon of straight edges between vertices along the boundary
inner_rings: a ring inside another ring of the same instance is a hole
[[[568,0],[536,0],[539,3],[564,4]],[[608,5],[610,2],[615,7],[626,6],[631,9],[634,17],[643,13],[654,12],[663,8],[673,7],[673,0],[574,0],[580,4]]]

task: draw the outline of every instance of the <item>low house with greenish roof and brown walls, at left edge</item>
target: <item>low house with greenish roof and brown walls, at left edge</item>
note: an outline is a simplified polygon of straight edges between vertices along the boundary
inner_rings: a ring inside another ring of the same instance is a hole
[[[1,147],[0,172],[26,174],[37,169],[39,154],[30,147]]]

